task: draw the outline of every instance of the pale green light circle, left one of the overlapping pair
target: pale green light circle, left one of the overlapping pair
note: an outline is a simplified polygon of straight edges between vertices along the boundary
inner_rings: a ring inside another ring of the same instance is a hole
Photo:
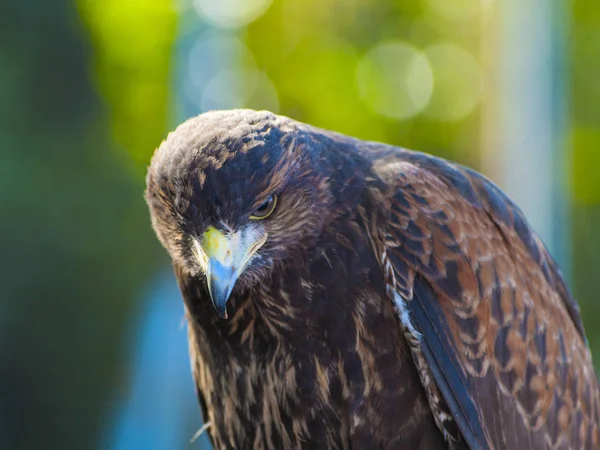
[[[421,112],[433,92],[427,57],[412,45],[385,41],[362,58],[356,71],[358,90],[377,113],[407,119]]]

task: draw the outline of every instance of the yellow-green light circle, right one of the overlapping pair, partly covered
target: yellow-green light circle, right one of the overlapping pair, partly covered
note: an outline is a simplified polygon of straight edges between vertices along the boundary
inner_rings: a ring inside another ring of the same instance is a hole
[[[443,121],[458,121],[473,112],[482,91],[479,62],[465,49],[450,43],[425,49],[433,71],[433,95],[424,114]]]

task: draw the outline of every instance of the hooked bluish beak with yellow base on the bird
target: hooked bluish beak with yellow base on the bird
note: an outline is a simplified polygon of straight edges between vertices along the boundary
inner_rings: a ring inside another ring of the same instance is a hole
[[[196,241],[210,298],[221,318],[227,318],[227,300],[235,282],[266,241],[267,233],[254,228],[224,234],[212,226],[208,227],[201,242]]]

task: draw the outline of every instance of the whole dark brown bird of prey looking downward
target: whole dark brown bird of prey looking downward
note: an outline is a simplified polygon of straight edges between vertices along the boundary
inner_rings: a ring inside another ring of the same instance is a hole
[[[269,112],[202,114],[152,159],[219,449],[598,449],[576,302],[492,182]]]

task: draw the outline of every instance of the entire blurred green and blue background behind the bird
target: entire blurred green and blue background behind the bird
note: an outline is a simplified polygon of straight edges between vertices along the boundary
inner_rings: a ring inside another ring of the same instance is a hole
[[[596,0],[0,2],[0,448],[208,448],[143,190],[209,109],[483,171],[559,260],[600,367],[599,61]]]

